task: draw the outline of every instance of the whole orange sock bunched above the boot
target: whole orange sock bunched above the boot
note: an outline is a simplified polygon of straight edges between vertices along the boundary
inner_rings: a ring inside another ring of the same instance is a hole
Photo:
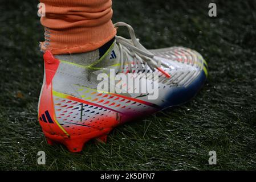
[[[116,35],[111,0],[40,0],[46,5],[43,51],[54,55],[93,51]]]

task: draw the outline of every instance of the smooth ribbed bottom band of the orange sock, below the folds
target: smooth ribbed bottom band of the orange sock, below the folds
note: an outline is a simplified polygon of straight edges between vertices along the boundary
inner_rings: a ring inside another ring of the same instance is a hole
[[[116,28],[109,20],[109,22],[93,28],[79,27],[71,30],[46,28],[44,35],[45,41],[40,43],[43,52],[50,50],[54,55],[82,53],[104,46],[115,37]]]

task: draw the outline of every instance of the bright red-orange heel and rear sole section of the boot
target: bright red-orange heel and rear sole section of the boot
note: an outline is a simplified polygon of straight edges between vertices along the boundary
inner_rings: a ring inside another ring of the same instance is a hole
[[[52,80],[59,67],[60,61],[55,59],[50,51],[44,54],[45,83],[39,103],[39,123],[42,126],[43,133],[46,136],[47,143],[53,144],[59,142],[64,144],[71,152],[80,152],[84,143],[93,138],[98,138],[105,142],[107,134],[113,127],[117,126],[116,112],[108,114],[104,118],[105,122],[98,122],[103,116],[92,121],[89,125],[74,125],[73,127],[63,128],[57,121],[54,108],[54,98],[52,94]],[[65,98],[64,98],[65,99]],[[67,98],[66,98],[67,99]],[[72,98],[70,98],[72,100]],[[71,123],[72,124],[72,123]]]

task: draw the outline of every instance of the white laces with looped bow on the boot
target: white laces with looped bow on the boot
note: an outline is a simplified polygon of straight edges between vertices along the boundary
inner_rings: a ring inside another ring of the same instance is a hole
[[[125,39],[121,36],[116,36],[116,44],[119,47],[120,50],[120,68],[119,72],[122,72],[124,69],[124,63],[127,61],[129,72],[132,72],[132,62],[134,62],[135,65],[138,65],[138,68],[140,71],[143,71],[143,64],[144,67],[147,68],[147,65],[149,68],[152,69],[152,71],[155,71],[155,68],[158,69],[161,73],[163,73],[166,77],[170,77],[168,73],[166,73],[163,69],[161,69],[161,65],[168,68],[168,65],[162,63],[161,60],[155,60],[153,53],[148,51],[144,46],[142,46],[139,42],[139,39],[136,38],[135,32],[127,23],[124,22],[118,22],[114,24],[115,27],[127,27],[129,31],[129,35],[131,36],[131,40]],[[128,55],[133,57],[133,61],[126,59]],[[124,60],[125,59],[125,60]]]

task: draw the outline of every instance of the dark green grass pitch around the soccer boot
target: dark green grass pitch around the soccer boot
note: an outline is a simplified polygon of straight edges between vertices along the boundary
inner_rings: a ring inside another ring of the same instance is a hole
[[[256,168],[256,3],[113,1],[113,22],[131,24],[147,48],[202,53],[209,79],[188,104],[117,127],[80,154],[48,146],[37,121],[43,27],[37,1],[0,2],[0,169],[231,170]],[[120,34],[127,32],[120,28]],[[46,165],[36,162],[46,152]],[[209,165],[208,152],[217,152]]]

